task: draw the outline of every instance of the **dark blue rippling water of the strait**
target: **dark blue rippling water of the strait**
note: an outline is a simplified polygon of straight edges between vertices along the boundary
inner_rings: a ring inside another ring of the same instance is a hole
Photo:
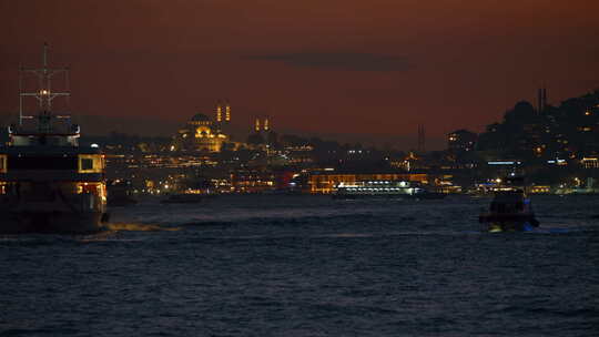
[[[598,336],[599,197],[230,196],[113,211],[91,236],[0,236],[1,336]]]

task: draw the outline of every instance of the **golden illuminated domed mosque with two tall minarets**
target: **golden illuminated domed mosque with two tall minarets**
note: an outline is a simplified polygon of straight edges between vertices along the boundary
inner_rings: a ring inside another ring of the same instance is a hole
[[[195,114],[174,136],[173,151],[221,152],[230,137],[225,133],[231,123],[229,102],[216,104],[216,121],[203,113]]]

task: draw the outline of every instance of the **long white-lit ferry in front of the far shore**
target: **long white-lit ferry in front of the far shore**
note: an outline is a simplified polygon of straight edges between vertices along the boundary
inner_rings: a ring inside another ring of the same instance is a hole
[[[423,187],[414,186],[409,182],[399,181],[364,181],[355,183],[339,183],[333,197],[343,200],[353,198],[404,198],[430,200],[444,198],[445,193],[429,192]]]

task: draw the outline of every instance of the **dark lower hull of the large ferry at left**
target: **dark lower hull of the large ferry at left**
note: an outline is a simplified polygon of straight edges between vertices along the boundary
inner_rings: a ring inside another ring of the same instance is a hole
[[[1,234],[90,234],[104,231],[104,213],[9,212],[0,224]]]

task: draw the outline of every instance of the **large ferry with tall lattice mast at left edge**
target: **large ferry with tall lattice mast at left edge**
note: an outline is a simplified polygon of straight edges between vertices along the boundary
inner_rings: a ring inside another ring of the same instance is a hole
[[[0,146],[0,233],[93,233],[108,222],[105,160],[98,145],[79,146],[80,127],[69,114],[52,113],[57,98],[69,98],[69,69],[19,71],[19,123]],[[23,76],[37,75],[39,90],[23,92]],[[63,76],[65,90],[52,91]],[[38,101],[37,115],[23,114],[23,99]]]

